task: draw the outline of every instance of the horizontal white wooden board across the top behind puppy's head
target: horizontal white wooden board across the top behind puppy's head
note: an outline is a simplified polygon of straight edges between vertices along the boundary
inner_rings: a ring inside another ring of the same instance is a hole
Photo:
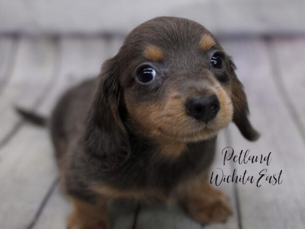
[[[211,31],[227,34],[303,33],[303,11],[301,0],[0,1],[0,32],[129,32],[148,19],[168,15],[190,18]]]

